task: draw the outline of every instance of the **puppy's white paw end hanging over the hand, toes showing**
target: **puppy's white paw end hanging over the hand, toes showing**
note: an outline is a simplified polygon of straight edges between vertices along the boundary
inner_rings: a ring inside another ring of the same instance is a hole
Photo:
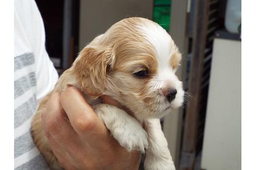
[[[148,148],[147,132],[137,121],[116,126],[111,133],[127,151],[138,150],[144,153],[145,148]]]

